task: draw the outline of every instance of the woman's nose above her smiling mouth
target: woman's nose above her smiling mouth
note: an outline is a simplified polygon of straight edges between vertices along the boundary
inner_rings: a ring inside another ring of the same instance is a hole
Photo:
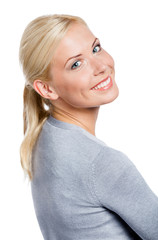
[[[98,58],[93,58],[92,67],[93,67],[93,74],[97,76],[100,74],[104,74],[108,68],[108,65],[102,60],[99,60]]]

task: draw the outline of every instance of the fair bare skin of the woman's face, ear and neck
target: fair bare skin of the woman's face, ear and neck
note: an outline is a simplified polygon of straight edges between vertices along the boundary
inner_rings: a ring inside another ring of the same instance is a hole
[[[87,26],[73,24],[53,56],[51,81],[37,79],[33,85],[41,96],[52,102],[54,118],[76,124],[94,136],[100,105],[114,101],[119,94],[114,60],[99,44]],[[72,58],[79,54],[81,56]],[[91,89],[108,76],[112,82],[110,87],[102,91]]]

